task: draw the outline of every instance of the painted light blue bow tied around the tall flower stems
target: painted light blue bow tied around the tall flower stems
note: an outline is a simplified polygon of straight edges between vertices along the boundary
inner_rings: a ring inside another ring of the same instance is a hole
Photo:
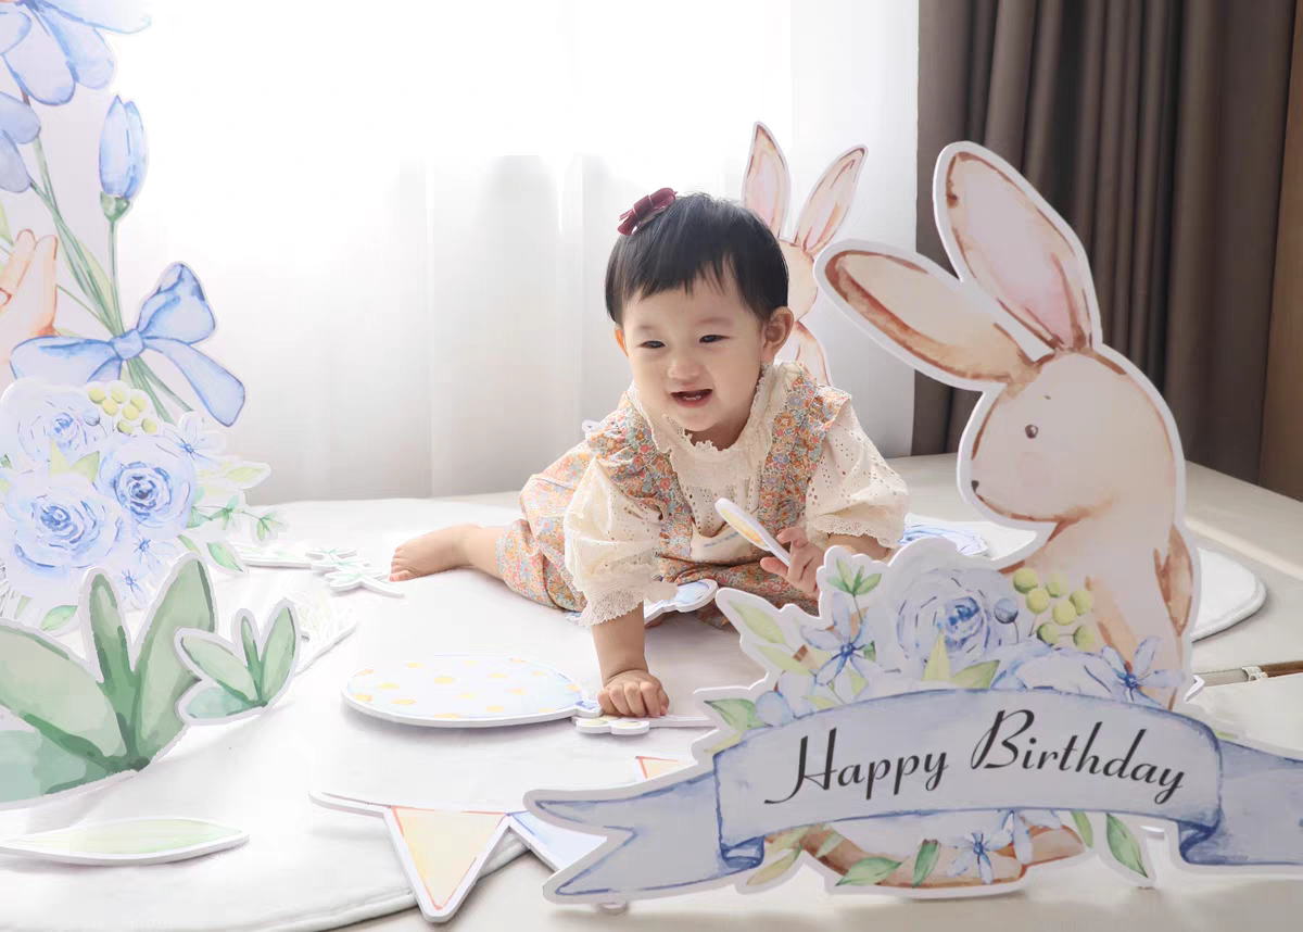
[[[203,405],[229,428],[244,407],[244,383],[192,345],[212,336],[216,326],[199,279],[173,262],[141,305],[133,330],[109,340],[38,336],[14,347],[9,368],[16,378],[55,385],[108,382],[121,375],[122,362],[152,349],[181,370]]]

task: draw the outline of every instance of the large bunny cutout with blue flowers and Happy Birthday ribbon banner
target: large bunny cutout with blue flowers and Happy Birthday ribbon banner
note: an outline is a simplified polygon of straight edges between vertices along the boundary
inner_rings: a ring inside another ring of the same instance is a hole
[[[840,244],[818,274],[919,369],[982,391],[959,488],[1035,540],[999,561],[915,541],[889,563],[831,547],[818,617],[722,589],[765,670],[698,693],[719,731],[636,787],[534,790],[542,819],[606,837],[558,902],[758,890],[810,866],[835,893],[982,896],[1100,856],[1153,882],[1144,825],[1182,868],[1303,866],[1303,759],[1183,704],[1197,563],[1170,412],[1104,345],[1084,250],[993,154],[942,153],[955,279]],[[1012,386],[1012,390],[1007,390]]]

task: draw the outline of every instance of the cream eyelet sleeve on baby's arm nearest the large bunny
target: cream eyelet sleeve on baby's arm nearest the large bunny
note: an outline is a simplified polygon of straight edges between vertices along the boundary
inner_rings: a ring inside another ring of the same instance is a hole
[[[823,435],[805,493],[805,529],[826,546],[831,534],[873,537],[895,547],[904,534],[909,491],[860,428],[850,404]]]

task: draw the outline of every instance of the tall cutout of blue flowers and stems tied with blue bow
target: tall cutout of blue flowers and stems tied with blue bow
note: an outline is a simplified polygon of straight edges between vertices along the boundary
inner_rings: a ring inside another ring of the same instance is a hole
[[[164,269],[134,315],[136,299],[120,287],[119,227],[145,182],[149,146],[137,106],[108,90],[115,57],[103,33],[146,29],[138,7],[56,1],[5,13],[0,55],[22,99],[0,100],[8,145],[0,210],[36,209],[53,235],[38,241],[31,231],[16,239],[0,231],[0,285],[22,283],[0,308],[0,361],[14,378],[53,385],[122,379],[152,399],[164,422],[197,405],[231,426],[245,387],[199,348],[216,318],[195,274],[182,262]],[[77,106],[64,109],[74,96]],[[103,123],[89,125],[87,115]],[[70,272],[63,293],[60,261]]]

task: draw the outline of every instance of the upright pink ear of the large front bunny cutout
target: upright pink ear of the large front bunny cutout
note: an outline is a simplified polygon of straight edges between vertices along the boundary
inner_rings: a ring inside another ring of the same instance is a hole
[[[946,164],[947,252],[1001,306],[1054,349],[1100,342],[1091,269],[1080,241],[1029,184],[985,150],[956,149]],[[938,226],[942,201],[938,197]],[[964,275],[964,270],[968,275]]]

